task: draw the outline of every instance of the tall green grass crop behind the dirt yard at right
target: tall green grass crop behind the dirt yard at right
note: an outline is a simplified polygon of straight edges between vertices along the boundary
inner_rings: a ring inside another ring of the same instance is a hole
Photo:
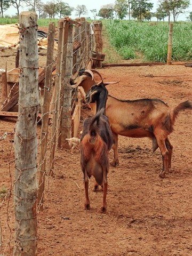
[[[169,35],[168,23],[113,21],[106,25],[111,45],[123,59],[132,59],[139,53],[143,61],[166,62]],[[172,61],[192,61],[192,23],[174,23]],[[130,57],[129,57],[130,54]]]

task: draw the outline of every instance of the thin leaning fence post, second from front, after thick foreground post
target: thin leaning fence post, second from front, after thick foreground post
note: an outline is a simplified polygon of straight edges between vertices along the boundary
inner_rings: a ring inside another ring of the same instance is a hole
[[[49,126],[49,109],[50,109],[50,92],[52,85],[52,65],[53,65],[53,51],[54,51],[54,35],[55,23],[50,22],[48,45],[47,45],[47,61],[45,69],[45,86],[44,86],[44,99],[42,111],[42,130],[41,130],[41,153],[40,153],[40,173],[39,173],[39,187],[37,203],[39,210],[43,211],[44,199],[44,185],[46,173],[46,147],[47,147],[47,133]]]

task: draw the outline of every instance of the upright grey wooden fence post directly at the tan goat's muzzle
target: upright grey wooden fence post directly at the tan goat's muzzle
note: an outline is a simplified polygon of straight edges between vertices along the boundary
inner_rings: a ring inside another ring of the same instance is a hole
[[[64,101],[62,113],[61,146],[69,148],[66,138],[71,138],[71,86],[70,77],[73,70],[73,22],[69,21],[67,56],[66,56],[66,75],[64,84]]]

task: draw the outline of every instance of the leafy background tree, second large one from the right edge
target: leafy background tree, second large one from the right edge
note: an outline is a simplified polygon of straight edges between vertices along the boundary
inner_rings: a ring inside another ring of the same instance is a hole
[[[142,15],[144,16],[146,11],[150,11],[153,8],[153,3],[148,3],[149,0],[132,0],[131,9],[133,10],[132,17],[139,18],[142,20]]]

